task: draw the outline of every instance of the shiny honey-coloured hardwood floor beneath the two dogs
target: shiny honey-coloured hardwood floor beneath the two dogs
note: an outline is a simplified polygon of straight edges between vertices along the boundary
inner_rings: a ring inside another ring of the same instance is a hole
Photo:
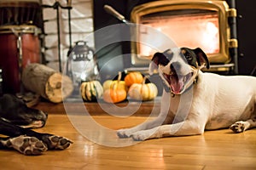
[[[256,169],[256,129],[237,134],[223,129],[197,136],[151,139],[126,147],[108,147],[84,138],[67,115],[60,114],[54,107],[61,108],[60,105],[45,108],[50,109],[49,120],[37,131],[65,136],[72,139],[73,144],[67,150],[48,150],[42,156],[23,156],[15,150],[0,150],[1,169]],[[103,127],[117,129],[136,125],[147,117],[94,115],[93,118]]]

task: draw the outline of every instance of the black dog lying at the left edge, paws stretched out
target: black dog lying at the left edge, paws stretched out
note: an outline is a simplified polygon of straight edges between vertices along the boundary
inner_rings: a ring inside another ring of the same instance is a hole
[[[0,149],[15,149],[26,156],[41,155],[46,150],[64,150],[70,139],[31,128],[44,127],[47,113],[26,106],[12,94],[0,98]]]

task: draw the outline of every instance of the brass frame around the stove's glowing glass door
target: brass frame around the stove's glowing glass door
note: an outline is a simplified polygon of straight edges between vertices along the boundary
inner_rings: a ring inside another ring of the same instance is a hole
[[[230,57],[230,48],[237,48],[238,41],[236,38],[230,37],[230,25],[229,18],[236,17],[236,8],[230,8],[228,3],[224,0],[160,0],[150,3],[143,3],[133,8],[131,11],[131,22],[140,24],[141,17],[146,14],[153,14],[164,12],[167,10],[179,10],[179,9],[203,9],[212,10],[218,12],[218,28],[219,28],[219,52],[217,54],[209,54],[210,63],[213,64],[213,69],[217,71],[227,71],[230,67],[234,67],[234,64],[230,64],[232,60]],[[139,28],[135,31],[135,36],[138,37]],[[137,40],[139,42],[139,40]],[[137,42],[131,42],[131,64],[134,66],[148,65],[150,57],[145,59],[140,58],[140,47]],[[217,65],[214,67],[214,64]],[[221,64],[221,65],[219,65]]]

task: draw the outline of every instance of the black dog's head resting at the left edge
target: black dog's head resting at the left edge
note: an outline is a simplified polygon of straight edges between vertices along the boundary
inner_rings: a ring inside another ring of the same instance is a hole
[[[44,127],[47,114],[44,111],[29,108],[23,100],[12,94],[0,98],[0,118],[21,127]]]

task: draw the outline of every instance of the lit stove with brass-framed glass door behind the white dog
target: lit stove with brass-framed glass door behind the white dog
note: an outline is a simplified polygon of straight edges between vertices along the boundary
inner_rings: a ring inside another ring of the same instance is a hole
[[[231,3],[230,3],[231,2]],[[234,1],[160,0],[143,3],[131,11],[131,22],[162,31],[177,47],[202,48],[211,62],[210,71],[237,72],[236,9]],[[142,43],[145,30],[131,42],[131,68],[143,69],[156,52]]]

